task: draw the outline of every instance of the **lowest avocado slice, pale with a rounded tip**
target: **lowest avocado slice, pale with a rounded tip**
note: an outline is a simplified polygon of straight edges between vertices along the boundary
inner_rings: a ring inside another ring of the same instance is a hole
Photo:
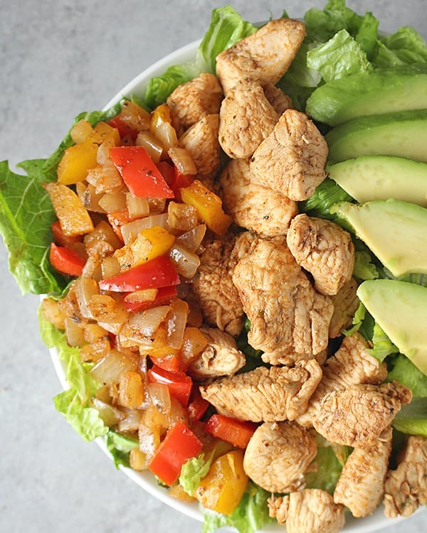
[[[399,351],[427,375],[427,287],[394,279],[369,279],[357,296]]]

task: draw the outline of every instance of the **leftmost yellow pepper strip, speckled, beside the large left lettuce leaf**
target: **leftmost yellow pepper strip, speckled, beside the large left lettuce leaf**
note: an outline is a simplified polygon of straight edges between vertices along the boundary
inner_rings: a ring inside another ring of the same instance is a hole
[[[89,212],[72,189],[61,183],[46,183],[44,187],[64,235],[85,235],[93,231]]]

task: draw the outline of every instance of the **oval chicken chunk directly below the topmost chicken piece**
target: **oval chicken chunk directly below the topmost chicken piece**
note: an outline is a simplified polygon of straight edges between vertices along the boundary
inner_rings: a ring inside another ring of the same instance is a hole
[[[219,112],[219,143],[235,159],[250,157],[278,122],[260,82],[241,80],[228,91]]]

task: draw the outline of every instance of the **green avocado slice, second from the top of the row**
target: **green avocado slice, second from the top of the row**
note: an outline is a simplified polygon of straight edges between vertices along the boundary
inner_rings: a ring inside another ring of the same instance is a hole
[[[427,162],[426,131],[427,109],[352,119],[326,134],[329,161],[384,155]]]

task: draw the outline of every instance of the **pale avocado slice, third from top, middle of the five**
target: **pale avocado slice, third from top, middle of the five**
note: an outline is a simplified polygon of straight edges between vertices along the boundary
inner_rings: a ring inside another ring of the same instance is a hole
[[[397,156],[359,156],[327,166],[354,200],[403,200],[427,207],[427,163]]]

